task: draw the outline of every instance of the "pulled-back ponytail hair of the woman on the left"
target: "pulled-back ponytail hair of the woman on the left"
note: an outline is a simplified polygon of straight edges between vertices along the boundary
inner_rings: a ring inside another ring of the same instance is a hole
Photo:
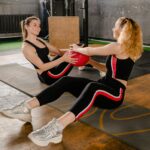
[[[28,36],[28,32],[25,28],[25,25],[29,25],[32,20],[39,20],[39,18],[36,16],[30,16],[30,17],[26,18],[25,20],[21,21],[21,30],[22,30],[23,40],[25,40],[25,38],[27,38],[27,36]]]

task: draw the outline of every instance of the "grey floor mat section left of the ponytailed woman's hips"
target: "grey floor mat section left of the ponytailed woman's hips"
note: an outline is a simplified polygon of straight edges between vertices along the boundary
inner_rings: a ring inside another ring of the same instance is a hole
[[[0,66],[0,80],[30,96],[35,96],[47,87],[39,82],[34,70],[18,64]]]

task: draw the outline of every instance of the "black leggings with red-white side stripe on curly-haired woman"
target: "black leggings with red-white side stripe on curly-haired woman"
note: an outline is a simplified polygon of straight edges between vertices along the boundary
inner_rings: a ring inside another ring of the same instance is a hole
[[[57,100],[64,92],[77,97],[77,102],[70,109],[76,120],[83,116],[93,105],[112,109],[121,105],[125,86],[115,79],[92,81],[79,77],[62,77],[36,96],[40,105]]]

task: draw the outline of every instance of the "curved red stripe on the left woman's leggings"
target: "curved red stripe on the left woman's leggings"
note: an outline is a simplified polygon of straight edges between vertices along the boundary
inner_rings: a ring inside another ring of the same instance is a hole
[[[72,66],[71,64],[67,65],[66,68],[64,68],[64,70],[62,72],[60,72],[59,74],[52,74],[50,71],[48,71],[47,74],[51,78],[57,79],[57,78],[60,78],[60,77],[64,76],[64,74],[70,69],[71,66]]]

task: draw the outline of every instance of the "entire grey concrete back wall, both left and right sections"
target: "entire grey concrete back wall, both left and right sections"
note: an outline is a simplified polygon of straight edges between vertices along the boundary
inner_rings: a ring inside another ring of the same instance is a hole
[[[40,0],[0,0],[1,14],[39,15]],[[82,1],[75,0],[82,35]],[[113,39],[112,27],[120,16],[135,19],[142,27],[144,43],[150,44],[150,0],[89,0],[89,37]]]

